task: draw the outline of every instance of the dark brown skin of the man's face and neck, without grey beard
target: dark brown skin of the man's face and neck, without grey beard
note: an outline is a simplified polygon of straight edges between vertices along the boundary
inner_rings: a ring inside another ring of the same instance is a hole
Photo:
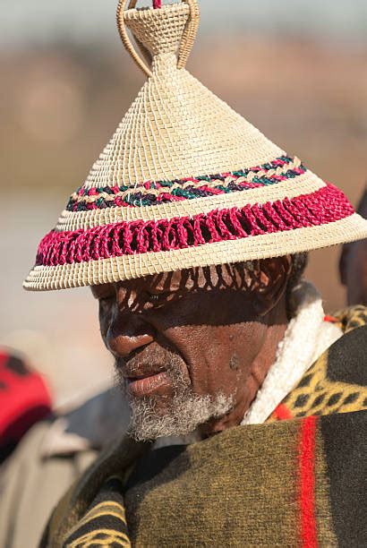
[[[291,258],[281,257],[258,261],[252,272],[225,265],[91,289],[102,338],[125,379],[155,379],[169,352],[194,393],[235,398],[224,417],[201,425],[209,436],[241,423],[274,363],[288,322],[290,273]],[[169,381],[153,383],[158,413],[174,392]]]

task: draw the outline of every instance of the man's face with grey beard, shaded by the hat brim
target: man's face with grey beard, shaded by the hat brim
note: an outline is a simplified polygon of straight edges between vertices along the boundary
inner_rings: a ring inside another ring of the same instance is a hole
[[[243,415],[266,330],[256,310],[261,276],[232,265],[92,287],[136,438]]]

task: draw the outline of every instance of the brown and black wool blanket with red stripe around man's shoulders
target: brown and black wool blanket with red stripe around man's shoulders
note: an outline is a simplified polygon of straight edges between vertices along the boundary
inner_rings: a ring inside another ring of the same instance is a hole
[[[266,424],[160,450],[125,438],[65,495],[41,546],[367,545],[365,310],[339,321],[346,334]]]

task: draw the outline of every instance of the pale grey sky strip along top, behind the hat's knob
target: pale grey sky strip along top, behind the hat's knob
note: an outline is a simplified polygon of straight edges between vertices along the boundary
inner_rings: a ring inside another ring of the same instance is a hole
[[[0,45],[117,41],[117,0],[0,0]],[[149,0],[141,2],[149,5]],[[367,41],[367,0],[200,0],[201,32],[311,34]]]

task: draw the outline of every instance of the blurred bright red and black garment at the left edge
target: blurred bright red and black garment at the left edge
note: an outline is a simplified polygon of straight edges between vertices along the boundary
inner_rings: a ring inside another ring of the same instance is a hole
[[[16,355],[0,350],[0,462],[30,427],[51,412],[46,382]]]

